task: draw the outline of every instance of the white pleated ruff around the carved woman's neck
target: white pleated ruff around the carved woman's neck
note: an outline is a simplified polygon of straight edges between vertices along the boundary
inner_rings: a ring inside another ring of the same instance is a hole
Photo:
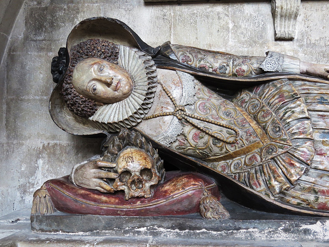
[[[156,67],[151,57],[144,52],[120,45],[118,63],[133,78],[132,94],[119,102],[102,105],[89,117],[90,120],[106,123],[113,132],[141,122],[151,108],[157,85]]]

